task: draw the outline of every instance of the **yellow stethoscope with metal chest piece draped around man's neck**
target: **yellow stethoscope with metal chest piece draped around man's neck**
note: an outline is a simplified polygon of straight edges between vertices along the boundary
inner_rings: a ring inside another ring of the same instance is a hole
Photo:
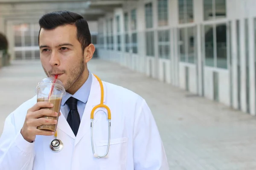
[[[91,126],[91,142],[92,142],[92,149],[93,149],[93,156],[95,158],[102,158],[102,157],[107,157],[108,155],[108,150],[109,150],[109,144],[110,144],[110,119],[111,119],[111,111],[110,109],[108,108],[107,105],[104,105],[103,104],[103,99],[104,99],[104,89],[103,89],[103,85],[102,85],[102,81],[101,79],[99,79],[98,76],[96,76],[95,74],[93,74],[96,79],[98,80],[99,82],[99,85],[100,85],[100,90],[101,90],[101,99],[100,99],[100,104],[99,105],[96,105],[92,111],[91,111],[91,115],[90,115],[90,119],[91,119],[91,123],[90,123],[90,126]],[[97,108],[105,108],[107,109],[108,111],[108,148],[107,148],[107,152],[105,153],[105,155],[98,155],[97,153],[95,153],[94,151],[94,144],[93,144],[93,119],[94,119],[94,112]],[[55,135],[54,135],[55,139],[52,140],[52,142],[50,143],[49,147],[50,149],[53,151],[53,152],[59,152],[62,150],[63,148],[63,142],[60,140],[60,139],[57,139],[57,130],[55,131]]]

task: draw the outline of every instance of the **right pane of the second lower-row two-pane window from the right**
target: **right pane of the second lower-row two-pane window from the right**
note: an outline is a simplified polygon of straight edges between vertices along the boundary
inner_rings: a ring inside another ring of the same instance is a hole
[[[195,27],[187,28],[188,62],[195,63]]]

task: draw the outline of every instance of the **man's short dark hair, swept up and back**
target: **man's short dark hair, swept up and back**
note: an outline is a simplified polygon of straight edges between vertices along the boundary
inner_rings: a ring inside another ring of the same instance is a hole
[[[64,25],[76,25],[77,39],[81,43],[82,50],[91,43],[91,34],[87,21],[79,14],[70,11],[55,11],[44,14],[39,20],[39,34],[38,34],[38,44],[39,35],[41,28],[46,30],[52,30],[58,26]]]

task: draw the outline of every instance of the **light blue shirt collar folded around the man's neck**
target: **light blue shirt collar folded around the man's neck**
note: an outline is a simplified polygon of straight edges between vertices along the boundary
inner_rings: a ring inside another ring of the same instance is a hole
[[[61,105],[65,105],[65,102],[67,102],[67,99],[69,99],[71,96],[80,100],[84,104],[87,102],[90,94],[90,88],[93,82],[93,75],[89,71],[88,79],[84,82],[84,84],[79,88],[78,91],[76,91],[75,94],[67,93],[62,97]]]

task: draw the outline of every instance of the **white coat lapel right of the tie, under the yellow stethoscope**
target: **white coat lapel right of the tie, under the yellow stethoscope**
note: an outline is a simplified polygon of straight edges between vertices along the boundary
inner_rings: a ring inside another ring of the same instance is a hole
[[[103,88],[104,88],[103,103],[105,104],[106,88],[105,88],[104,84],[103,84]],[[83,116],[82,116],[82,119],[81,119],[81,123],[80,123],[80,126],[79,126],[77,136],[76,136],[75,145],[81,140],[81,138],[85,134],[90,132],[90,130],[91,130],[90,114],[91,114],[91,111],[92,111],[93,107],[100,104],[100,99],[101,99],[101,88],[100,88],[98,80],[93,75],[93,82],[92,82],[91,89],[90,89],[90,95],[89,95],[89,98],[87,100],[86,106],[84,108],[84,113],[83,113]],[[93,125],[95,125],[97,123],[98,119],[99,119],[99,116],[94,116]]]

